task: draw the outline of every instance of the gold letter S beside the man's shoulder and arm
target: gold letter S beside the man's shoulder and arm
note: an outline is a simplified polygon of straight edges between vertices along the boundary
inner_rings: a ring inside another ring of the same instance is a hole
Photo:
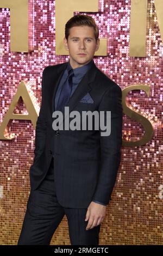
[[[123,113],[139,122],[145,129],[145,135],[139,141],[123,141],[124,147],[137,147],[140,145],[145,145],[152,139],[153,136],[153,126],[151,122],[126,104],[126,96],[131,90],[143,90],[149,97],[150,86],[146,86],[145,84],[137,84],[134,86],[128,86],[122,90]]]

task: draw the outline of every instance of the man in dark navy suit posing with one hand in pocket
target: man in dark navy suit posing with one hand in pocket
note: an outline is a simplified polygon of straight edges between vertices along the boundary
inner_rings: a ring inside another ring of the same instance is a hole
[[[98,245],[122,145],[122,90],[93,62],[98,36],[91,17],[72,17],[64,38],[70,60],[43,70],[31,190],[18,245],[49,245],[65,214],[71,245]],[[110,111],[110,135],[101,136],[95,124],[91,130],[54,130],[53,112],[64,107],[103,112],[105,121]]]

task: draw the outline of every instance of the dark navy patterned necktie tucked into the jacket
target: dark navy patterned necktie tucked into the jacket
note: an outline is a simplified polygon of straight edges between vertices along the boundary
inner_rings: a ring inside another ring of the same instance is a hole
[[[74,76],[73,69],[68,71],[68,76],[66,78],[65,83],[62,85],[61,92],[59,95],[59,100],[57,104],[57,110],[63,111],[65,105],[70,99],[71,90],[72,90],[72,77]]]

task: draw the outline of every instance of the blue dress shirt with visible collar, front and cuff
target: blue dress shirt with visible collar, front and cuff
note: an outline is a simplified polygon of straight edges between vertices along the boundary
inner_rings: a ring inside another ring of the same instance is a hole
[[[93,63],[93,59],[90,60],[90,62],[87,63],[86,65],[83,65],[83,66],[80,66],[79,68],[73,69],[74,76],[72,77],[72,91],[71,91],[70,97],[72,96],[72,94],[74,93],[74,91],[77,89],[78,84],[79,84],[80,81],[82,80],[83,76],[84,76],[84,75],[86,74],[86,72],[91,68],[92,63]],[[69,60],[68,63],[67,63],[67,67],[72,68],[72,66],[71,66],[71,64],[70,64],[70,60]],[[59,100],[59,95],[60,95],[60,92],[61,92],[61,88],[62,88],[62,85],[65,83],[65,81],[66,81],[66,79],[67,79],[67,76],[68,76],[68,71],[67,71],[67,68],[66,68],[65,71],[64,71],[64,74],[63,74],[62,77],[61,77],[61,80],[60,80],[59,85],[58,85],[57,92],[56,92],[56,94],[55,94],[55,99],[54,99],[54,106],[55,106],[55,109],[57,109],[57,104],[58,104],[58,100]],[[54,110],[55,110],[55,109],[54,109]],[[94,200],[93,200],[93,202],[98,203],[98,204],[102,204],[102,205],[106,205],[106,204],[103,204],[103,203],[101,203],[101,202],[94,201]]]

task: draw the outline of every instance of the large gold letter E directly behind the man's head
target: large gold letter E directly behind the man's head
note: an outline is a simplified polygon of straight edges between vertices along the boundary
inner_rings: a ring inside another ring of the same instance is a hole
[[[64,48],[65,24],[74,11],[98,12],[98,0],[55,0],[55,54],[68,55]],[[101,38],[95,56],[107,56],[107,39]]]

